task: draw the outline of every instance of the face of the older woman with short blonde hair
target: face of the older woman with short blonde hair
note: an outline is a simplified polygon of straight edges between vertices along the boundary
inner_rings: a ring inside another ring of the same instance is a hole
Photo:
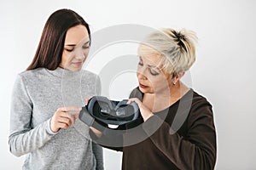
[[[137,65],[137,79],[143,93],[159,94],[169,89],[169,77],[161,70],[160,59],[163,56],[156,53],[141,54]]]

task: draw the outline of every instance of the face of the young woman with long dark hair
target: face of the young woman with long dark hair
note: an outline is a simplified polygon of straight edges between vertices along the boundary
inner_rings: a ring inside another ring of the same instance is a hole
[[[67,30],[61,56],[62,68],[80,71],[90,48],[90,39],[85,26],[73,26]]]

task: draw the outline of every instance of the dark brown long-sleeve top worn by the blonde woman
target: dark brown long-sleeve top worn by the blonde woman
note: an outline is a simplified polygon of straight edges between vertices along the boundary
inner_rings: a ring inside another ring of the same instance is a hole
[[[143,99],[139,88],[131,92],[130,98],[134,97]],[[124,128],[126,130],[120,130]],[[119,131],[111,130],[96,142],[123,151],[124,170],[213,169],[216,132],[212,105],[190,89],[176,103],[154,113],[146,122],[140,116],[136,122],[119,127]]]

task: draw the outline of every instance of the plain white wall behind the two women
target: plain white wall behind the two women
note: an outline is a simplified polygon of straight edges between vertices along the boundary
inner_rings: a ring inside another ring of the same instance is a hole
[[[11,90],[16,75],[32,61],[49,14],[59,8],[78,12],[90,23],[92,32],[125,23],[195,31],[199,45],[190,71],[192,88],[213,105],[218,133],[216,169],[256,169],[253,0],[1,1],[0,169],[20,169],[24,160],[24,156],[17,158],[9,153]],[[133,77],[130,82],[137,83]],[[110,91],[123,97],[118,88]],[[120,153],[105,150],[104,158],[106,169],[120,169]]]

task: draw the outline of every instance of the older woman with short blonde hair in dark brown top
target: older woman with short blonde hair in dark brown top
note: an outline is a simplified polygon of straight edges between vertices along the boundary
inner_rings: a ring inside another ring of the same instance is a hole
[[[123,151],[124,170],[214,168],[212,105],[181,81],[195,62],[195,41],[195,33],[186,30],[148,35],[138,48],[139,86],[128,100],[137,103],[141,117],[121,132],[102,134],[91,127],[96,142]]]

